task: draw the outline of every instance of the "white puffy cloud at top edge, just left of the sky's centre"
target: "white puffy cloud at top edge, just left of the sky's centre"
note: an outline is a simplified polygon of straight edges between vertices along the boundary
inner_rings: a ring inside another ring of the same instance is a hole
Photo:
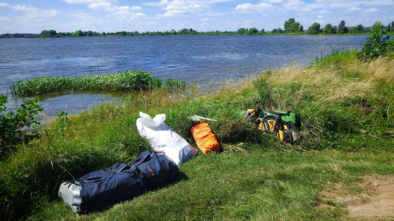
[[[160,2],[149,2],[145,5],[150,6],[165,6],[166,12],[157,15],[158,17],[175,17],[175,16],[189,16],[201,12],[204,9],[210,8],[207,3],[199,0],[161,0]]]

